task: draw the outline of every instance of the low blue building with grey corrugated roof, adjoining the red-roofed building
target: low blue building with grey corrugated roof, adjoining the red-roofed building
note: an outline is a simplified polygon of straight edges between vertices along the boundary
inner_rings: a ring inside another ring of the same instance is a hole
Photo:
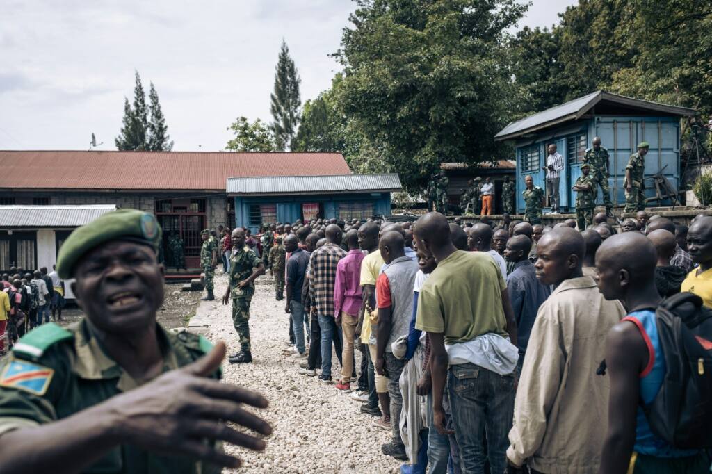
[[[365,220],[391,214],[391,193],[400,191],[397,174],[337,174],[228,178],[235,200],[235,225],[257,231],[262,223],[297,219]]]

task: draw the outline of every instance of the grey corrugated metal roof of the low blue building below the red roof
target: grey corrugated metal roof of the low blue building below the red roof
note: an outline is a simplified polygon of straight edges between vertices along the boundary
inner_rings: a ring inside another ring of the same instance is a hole
[[[228,178],[228,194],[319,194],[353,191],[399,191],[397,174],[340,174],[337,176],[288,176]]]

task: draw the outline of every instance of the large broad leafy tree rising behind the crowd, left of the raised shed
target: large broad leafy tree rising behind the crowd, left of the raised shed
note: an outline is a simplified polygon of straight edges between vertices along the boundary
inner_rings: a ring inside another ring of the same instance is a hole
[[[493,137],[511,119],[505,31],[523,14],[514,0],[361,0],[337,58],[340,98],[357,132],[357,168],[397,170],[419,189],[442,162],[506,157]],[[348,144],[346,145],[348,148]],[[365,164],[360,160],[367,159]],[[377,163],[374,163],[374,160]],[[353,166],[353,165],[352,165]]]

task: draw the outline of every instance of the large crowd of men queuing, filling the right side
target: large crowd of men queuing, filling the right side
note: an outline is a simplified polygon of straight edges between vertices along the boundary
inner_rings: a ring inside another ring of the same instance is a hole
[[[640,211],[620,231],[604,212],[580,231],[504,217],[276,223],[259,236],[269,258],[229,291],[271,270],[281,300],[286,282],[285,354],[391,431],[382,453],[403,473],[708,472],[706,452],[657,436],[642,404],[665,372],[648,368],[656,306],[684,290],[712,307],[712,217],[687,228]],[[625,347],[642,347],[634,364]]]

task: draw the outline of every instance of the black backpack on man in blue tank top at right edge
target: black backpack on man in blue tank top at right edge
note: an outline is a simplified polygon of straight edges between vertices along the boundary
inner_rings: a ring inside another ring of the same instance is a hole
[[[712,447],[712,309],[679,293],[656,312],[663,384],[644,411],[650,428],[676,448]]]

